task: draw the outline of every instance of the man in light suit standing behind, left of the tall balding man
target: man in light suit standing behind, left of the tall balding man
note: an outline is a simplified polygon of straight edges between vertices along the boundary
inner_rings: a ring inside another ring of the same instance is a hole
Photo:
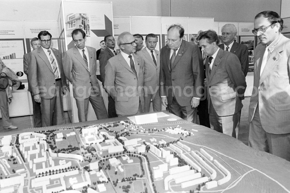
[[[158,42],[155,34],[148,34],[145,38],[146,48],[137,52],[144,60],[145,74],[145,112],[149,112],[151,99],[153,111],[161,111],[159,94],[160,52],[155,50]]]

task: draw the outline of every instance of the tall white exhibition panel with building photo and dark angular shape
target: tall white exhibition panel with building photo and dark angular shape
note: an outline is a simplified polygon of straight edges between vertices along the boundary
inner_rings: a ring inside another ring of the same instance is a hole
[[[63,52],[73,48],[75,43],[71,37],[71,32],[76,28],[81,28],[86,33],[86,46],[91,46],[98,50],[99,42],[104,40],[108,34],[113,34],[113,10],[111,2],[93,2],[93,1],[73,1],[62,0],[61,2],[62,24],[64,30],[61,32],[61,39],[65,41],[65,46],[62,47]],[[99,74],[99,68],[97,68]],[[71,122],[79,122],[77,116],[77,105],[72,93],[72,84],[70,85],[70,104],[68,105],[68,114]],[[99,82],[99,85],[102,85]],[[101,86],[102,87],[102,86]],[[108,104],[108,97],[103,89],[103,97],[105,104]],[[89,104],[88,121],[96,120],[97,117]]]

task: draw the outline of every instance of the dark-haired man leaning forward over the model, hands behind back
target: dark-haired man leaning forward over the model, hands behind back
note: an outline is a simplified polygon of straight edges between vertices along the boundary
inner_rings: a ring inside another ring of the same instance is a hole
[[[238,57],[218,47],[218,35],[213,30],[201,32],[198,41],[206,56],[207,99],[211,128],[238,136],[240,100],[247,84]]]

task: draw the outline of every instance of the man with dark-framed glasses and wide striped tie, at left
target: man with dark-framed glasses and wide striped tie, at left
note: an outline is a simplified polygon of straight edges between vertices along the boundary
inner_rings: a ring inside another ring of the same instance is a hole
[[[66,77],[59,51],[50,48],[51,37],[48,31],[39,32],[41,47],[29,57],[28,79],[33,99],[41,103],[42,127],[64,124],[62,94],[66,94]]]

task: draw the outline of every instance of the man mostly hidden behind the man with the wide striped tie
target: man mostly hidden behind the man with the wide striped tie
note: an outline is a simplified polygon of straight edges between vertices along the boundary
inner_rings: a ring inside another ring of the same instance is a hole
[[[35,50],[41,46],[40,41],[37,37],[31,39],[30,45],[33,48],[33,50]],[[30,53],[31,52],[23,55],[23,71],[27,75],[27,80],[29,80],[28,79],[28,70],[29,70],[28,59],[29,59]],[[30,92],[31,99],[32,99],[33,125],[34,125],[34,127],[41,127],[41,108],[40,108],[41,103],[37,103],[33,99],[32,89],[31,89],[31,85],[30,85],[29,81],[28,81],[28,91]]]

